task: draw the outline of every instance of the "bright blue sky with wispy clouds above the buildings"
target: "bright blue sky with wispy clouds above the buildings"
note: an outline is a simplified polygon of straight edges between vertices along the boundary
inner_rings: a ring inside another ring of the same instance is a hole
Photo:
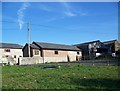
[[[118,39],[116,2],[4,2],[2,41],[77,44],[93,40]]]

